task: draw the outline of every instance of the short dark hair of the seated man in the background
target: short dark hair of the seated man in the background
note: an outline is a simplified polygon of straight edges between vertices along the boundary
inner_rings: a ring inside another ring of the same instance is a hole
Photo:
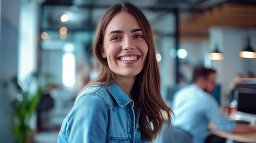
[[[198,66],[198,67],[195,67],[194,71],[193,71],[193,79],[192,79],[192,82],[195,83],[195,82],[198,82],[198,80],[200,78],[205,78],[207,79],[207,77],[209,76],[209,74],[211,73],[216,73],[216,70],[214,69],[207,69],[206,67],[204,66]]]

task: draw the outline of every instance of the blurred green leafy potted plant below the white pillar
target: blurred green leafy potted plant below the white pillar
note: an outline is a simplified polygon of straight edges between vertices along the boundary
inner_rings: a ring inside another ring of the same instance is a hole
[[[33,73],[21,84],[17,77],[11,80],[17,90],[17,99],[13,102],[13,113],[15,119],[11,131],[17,143],[25,143],[31,133],[29,126],[30,119],[38,107],[42,94],[42,88],[36,87],[35,91],[31,89],[35,86],[37,74]],[[33,87],[32,87],[33,86]]]

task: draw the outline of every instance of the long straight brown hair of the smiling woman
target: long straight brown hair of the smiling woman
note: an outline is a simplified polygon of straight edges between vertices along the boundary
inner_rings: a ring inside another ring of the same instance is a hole
[[[128,3],[113,5],[99,21],[92,48],[94,55],[100,60],[102,67],[100,76],[94,82],[103,82],[103,85],[106,85],[110,81],[112,83],[115,82],[114,73],[109,69],[106,58],[101,56],[101,46],[103,45],[103,37],[107,24],[121,11],[134,15],[138,23],[140,23],[141,29],[143,29],[144,39],[149,48],[143,70],[136,76],[131,94],[132,100],[135,102],[135,107],[141,110],[139,118],[141,138],[152,141],[162,129],[162,124],[164,123],[162,113],[165,112],[167,114],[168,123],[171,123],[172,111],[165,104],[161,96],[160,74],[149,21],[147,21],[144,14],[134,5]]]

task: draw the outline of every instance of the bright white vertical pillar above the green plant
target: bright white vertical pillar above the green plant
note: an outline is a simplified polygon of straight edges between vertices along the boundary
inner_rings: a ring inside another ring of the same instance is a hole
[[[36,71],[38,62],[39,4],[37,1],[21,2],[18,47],[18,79],[23,80]]]

